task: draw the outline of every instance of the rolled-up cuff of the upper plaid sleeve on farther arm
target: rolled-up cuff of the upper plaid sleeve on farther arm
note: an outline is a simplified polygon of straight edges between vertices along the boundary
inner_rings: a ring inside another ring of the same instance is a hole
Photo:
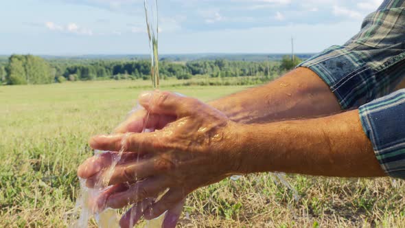
[[[405,52],[400,51],[375,49],[371,54],[362,45],[335,45],[298,67],[311,69],[325,81],[343,110],[357,109],[395,89],[405,71]],[[384,58],[375,65],[377,56]]]

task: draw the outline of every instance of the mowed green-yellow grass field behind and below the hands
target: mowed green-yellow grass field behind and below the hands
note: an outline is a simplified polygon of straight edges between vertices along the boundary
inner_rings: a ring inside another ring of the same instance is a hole
[[[76,168],[91,135],[108,133],[150,82],[0,87],[0,227],[67,227]],[[172,83],[173,84],[173,83]],[[207,101],[247,87],[165,87]],[[271,174],[224,180],[187,198],[181,227],[405,227],[405,185],[391,179]],[[94,226],[94,225],[93,225]]]

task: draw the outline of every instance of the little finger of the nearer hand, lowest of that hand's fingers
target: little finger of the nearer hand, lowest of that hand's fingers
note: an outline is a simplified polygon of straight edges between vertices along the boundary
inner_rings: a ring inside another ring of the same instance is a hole
[[[171,188],[162,198],[160,201],[154,203],[151,207],[149,207],[144,216],[147,220],[152,220],[161,216],[164,212],[168,209],[176,207],[181,201],[184,200],[185,192],[179,188]]]

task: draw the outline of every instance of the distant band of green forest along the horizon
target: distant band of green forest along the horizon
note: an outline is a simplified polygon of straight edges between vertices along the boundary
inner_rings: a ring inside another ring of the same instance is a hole
[[[143,56],[0,56],[1,84],[49,84],[76,80],[150,79],[150,60]],[[227,58],[224,58],[227,57]],[[304,56],[309,58],[310,55]],[[242,60],[240,60],[242,59]],[[256,60],[252,60],[256,59]],[[183,55],[162,56],[162,79],[188,80],[194,76],[230,78],[263,76],[275,78],[301,62],[299,56],[266,55]]]

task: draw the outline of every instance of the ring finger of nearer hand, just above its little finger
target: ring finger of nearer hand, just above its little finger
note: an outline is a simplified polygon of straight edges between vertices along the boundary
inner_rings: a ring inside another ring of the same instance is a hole
[[[165,191],[169,184],[165,176],[155,176],[143,181],[137,181],[137,183],[131,185],[125,192],[119,192],[109,196],[106,205],[114,209],[119,209],[126,205],[143,201],[145,198],[156,197],[159,193]]]

